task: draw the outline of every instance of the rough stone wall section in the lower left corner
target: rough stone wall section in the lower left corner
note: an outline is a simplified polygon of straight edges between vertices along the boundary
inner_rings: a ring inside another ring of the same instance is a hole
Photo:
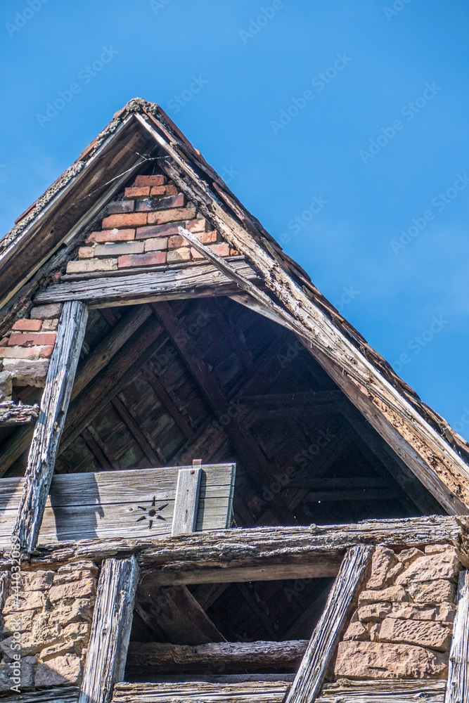
[[[0,693],[11,691],[18,655],[22,691],[79,685],[98,568],[91,561],[65,564],[56,570],[25,568],[21,567],[18,593],[12,590],[3,609]]]

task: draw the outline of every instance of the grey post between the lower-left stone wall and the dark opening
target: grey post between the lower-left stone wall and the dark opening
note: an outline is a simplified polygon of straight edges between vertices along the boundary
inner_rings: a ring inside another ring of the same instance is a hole
[[[134,556],[103,562],[79,703],[108,703],[124,677],[138,576]]]

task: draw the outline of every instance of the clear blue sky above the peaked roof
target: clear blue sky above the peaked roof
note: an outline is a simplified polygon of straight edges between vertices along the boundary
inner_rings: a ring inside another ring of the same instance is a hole
[[[469,439],[467,0],[10,0],[0,18],[1,234],[113,112],[159,103]]]

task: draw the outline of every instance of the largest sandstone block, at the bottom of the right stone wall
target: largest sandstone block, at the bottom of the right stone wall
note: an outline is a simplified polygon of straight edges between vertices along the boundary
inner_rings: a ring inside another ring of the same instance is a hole
[[[368,678],[443,678],[448,657],[423,647],[380,642],[341,642],[335,676]]]

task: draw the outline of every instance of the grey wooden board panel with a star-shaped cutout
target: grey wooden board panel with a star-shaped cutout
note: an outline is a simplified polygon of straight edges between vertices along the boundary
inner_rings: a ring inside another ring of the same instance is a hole
[[[198,470],[195,530],[229,527],[236,465],[207,464]],[[53,476],[39,543],[171,535],[179,471],[170,466]],[[10,546],[22,484],[19,478],[0,479],[0,549]]]

